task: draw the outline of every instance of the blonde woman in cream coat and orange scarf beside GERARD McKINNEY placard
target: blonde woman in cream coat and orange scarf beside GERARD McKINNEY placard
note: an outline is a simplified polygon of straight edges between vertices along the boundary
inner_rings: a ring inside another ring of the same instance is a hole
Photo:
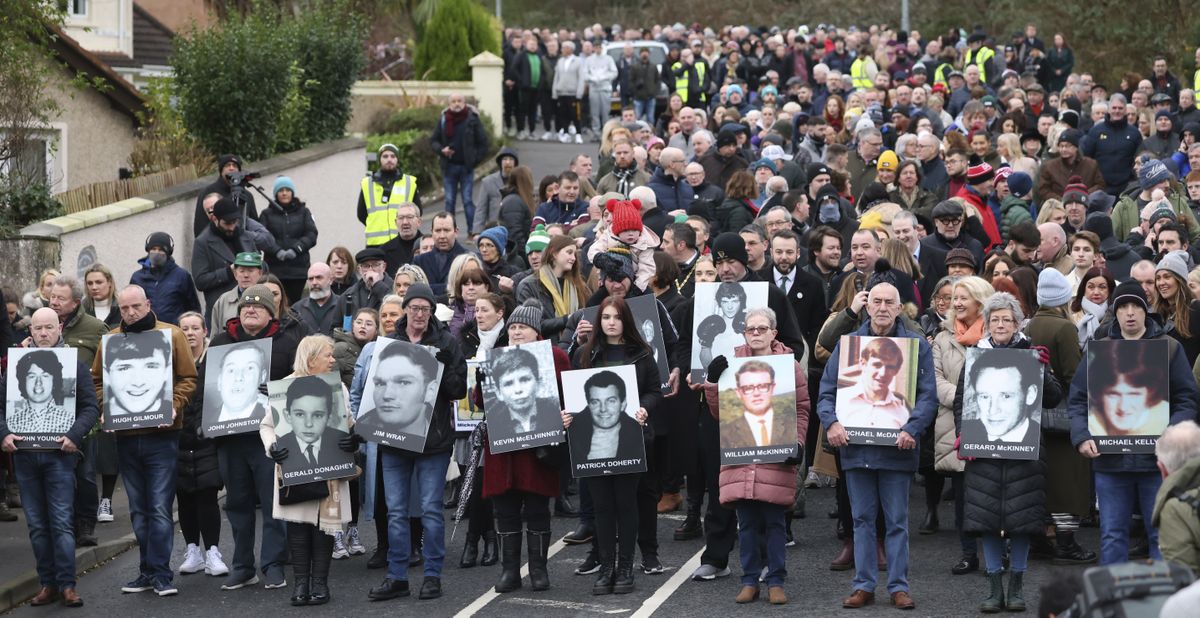
[[[962,533],[962,461],[955,457],[954,398],[966,364],[967,348],[984,337],[983,306],[995,290],[980,277],[962,277],[950,292],[950,312],[934,337],[934,374],[937,378],[937,420],[934,422],[934,469],[947,474],[954,486],[954,527],[959,530],[962,557],[950,572],[964,575],[979,569],[976,540]],[[925,515],[922,530],[937,528],[937,511]]]

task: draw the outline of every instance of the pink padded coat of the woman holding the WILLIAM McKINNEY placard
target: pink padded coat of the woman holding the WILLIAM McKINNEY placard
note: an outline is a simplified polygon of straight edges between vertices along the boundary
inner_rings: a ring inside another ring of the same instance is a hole
[[[775,341],[770,344],[772,354],[792,354],[792,349]],[[750,346],[733,348],[738,358],[752,356]],[[809,428],[809,383],[800,364],[796,366],[796,438],[804,444]],[[704,398],[708,400],[708,412],[719,419],[716,384],[704,384]],[[803,456],[803,454],[802,454]],[[721,466],[719,485],[721,504],[738,500],[758,500],[769,504],[791,506],[796,499],[796,466],[785,463],[751,463],[749,466]]]

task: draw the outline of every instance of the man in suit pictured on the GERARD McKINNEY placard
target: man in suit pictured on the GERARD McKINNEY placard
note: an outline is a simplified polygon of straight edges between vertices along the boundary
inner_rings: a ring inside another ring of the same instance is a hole
[[[976,358],[967,374],[974,391],[979,415],[962,421],[962,442],[1004,442],[1022,446],[1037,445],[1042,439],[1038,412],[1038,390],[1042,388],[1039,366],[1022,362],[1006,365],[1000,354]]]

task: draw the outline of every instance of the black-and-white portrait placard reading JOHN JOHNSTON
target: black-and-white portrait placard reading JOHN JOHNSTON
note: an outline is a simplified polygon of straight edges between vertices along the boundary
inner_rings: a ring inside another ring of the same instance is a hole
[[[260,389],[270,372],[270,338],[209,348],[204,355],[204,436],[257,432],[268,407]]]

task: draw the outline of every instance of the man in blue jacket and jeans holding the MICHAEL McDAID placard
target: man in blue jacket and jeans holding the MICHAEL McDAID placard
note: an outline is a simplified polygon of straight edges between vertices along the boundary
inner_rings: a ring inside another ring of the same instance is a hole
[[[916,340],[919,346],[916,378],[916,398],[908,419],[900,426],[893,444],[851,444],[846,427],[840,422],[842,402],[838,392],[838,364],[826,365],[821,378],[821,398],[817,413],[826,427],[829,444],[841,450],[841,469],[850,494],[854,518],[854,590],[842,600],[842,607],[858,608],[875,602],[878,576],[875,517],[882,508],[886,528],[883,546],[888,559],[888,593],[892,604],[901,610],[916,607],[908,594],[908,487],[917,472],[917,439],[930,428],[937,413],[934,384],[934,356],[920,332],[908,330],[900,322],[900,292],[887,281],[872,277],[866,298],[870,319],[856,335]],[[844,337],[833,349],[832,358],[844,356]]]

